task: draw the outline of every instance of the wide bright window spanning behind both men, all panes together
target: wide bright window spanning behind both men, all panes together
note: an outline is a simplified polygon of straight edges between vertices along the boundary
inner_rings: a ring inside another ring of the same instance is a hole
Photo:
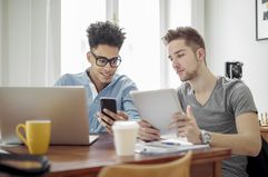
[[[162,3],[167,6],[161,18],[166,21],[160,21]],[[118,72],[129,76],[140,90],[178,87],[180,81],[171,62],[160,52],[165,47],[160,27],[190,26],[190,9],[189,0],[62,0],[61,75],[81,72],[89,67],[86,57],[89,50],[87,27],[91,22],[118,17],[119,26],[127,32]],[[167,63],[165,70],[163,62]],[[165,86],[160,78],[166,80]]]

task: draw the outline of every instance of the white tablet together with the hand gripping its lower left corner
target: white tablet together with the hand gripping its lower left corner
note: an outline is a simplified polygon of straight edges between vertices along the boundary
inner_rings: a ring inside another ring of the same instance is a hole
[[[177,135],[169,128],[172,115],[182,112],[175,89],[131,91],[130,96],[141,116],[139,122],[141,140],[158,140],[162,136]]]

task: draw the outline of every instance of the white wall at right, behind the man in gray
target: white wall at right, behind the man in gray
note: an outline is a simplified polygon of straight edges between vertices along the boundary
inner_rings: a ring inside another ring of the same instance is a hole
[[[256,41],[255,10],[255,0],[206,0],[205,40],[215,73],[225,75],[226,61],[244,62],[242,80],[262,112],[268,110],[268,40]]]

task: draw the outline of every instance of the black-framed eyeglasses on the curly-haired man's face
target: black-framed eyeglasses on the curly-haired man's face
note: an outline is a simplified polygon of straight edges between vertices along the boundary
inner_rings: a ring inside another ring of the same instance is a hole
[[[121,63],[120,56],[108,59],[102,56],[96,56],[92,51],[90,51],[90,52],[96,58],[96,65],[99,67],[105,67],[109,62],[111,68],[117,68]]]

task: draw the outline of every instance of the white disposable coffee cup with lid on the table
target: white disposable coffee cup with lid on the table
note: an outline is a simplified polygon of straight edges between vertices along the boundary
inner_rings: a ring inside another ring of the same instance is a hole
[[[115,121],[112,131],[118,156],[132,156],[135,154],[138,129],[137,121]]]

